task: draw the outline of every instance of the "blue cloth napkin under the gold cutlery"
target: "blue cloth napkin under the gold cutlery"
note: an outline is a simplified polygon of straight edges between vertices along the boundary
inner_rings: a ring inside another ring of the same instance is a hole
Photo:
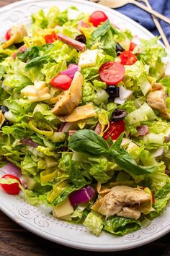
[[[170,0],[149,0],[149,2],[152,9],[170,18]],[[135,20],[143,27],[146,27],[154,35],[159,35],[158,30],[156,29],[156,25],[151,17],[151,14],[143,11],[143,9],[140,9],[133,4],[127,4],[124,7],[120,7],[115,10]],[[160,23],[170,43],[170,25],[164,21],[160,21]]]

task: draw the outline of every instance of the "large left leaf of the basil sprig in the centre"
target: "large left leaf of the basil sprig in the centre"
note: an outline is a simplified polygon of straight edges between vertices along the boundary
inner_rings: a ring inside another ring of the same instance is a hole
[[[68,142],[68,147],[90,155],[107,155],[109,153],[107,142],[89,129],[82,129],[74,133]]]

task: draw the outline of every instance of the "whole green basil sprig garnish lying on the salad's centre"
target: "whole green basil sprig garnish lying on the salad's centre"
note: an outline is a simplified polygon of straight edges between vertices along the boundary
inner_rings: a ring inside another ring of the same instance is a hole
[[[82,129],[71,136],[68,147],[74,151],[96,156],[112,156],[120,168],[131,175],[151,174],[157,166],[138,166],[133,157],[121,147],[123,134],[109,148],[94,131]]]

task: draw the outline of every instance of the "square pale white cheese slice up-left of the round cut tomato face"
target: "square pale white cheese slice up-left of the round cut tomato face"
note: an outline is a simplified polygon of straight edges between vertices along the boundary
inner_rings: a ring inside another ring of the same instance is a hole
[[[81,53],[79,67],[94,67],[97,62],[98,50],[86,50]]]

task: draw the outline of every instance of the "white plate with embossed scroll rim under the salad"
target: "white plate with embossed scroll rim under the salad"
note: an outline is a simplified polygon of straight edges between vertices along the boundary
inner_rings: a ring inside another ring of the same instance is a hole
[[[109,20],[119,27],[126,27],[130,29],[133,34],[140,35],[141,38],[147,39],[153,37],[148,30],[119,12],[87,1],[25,0],[0,9],[0,38],[4,36],[6,30],[12,25],[17,23],[30,23],[30,14],[33,12],[37,12],[39,9],[47,10],[54,5],[57,5],[61,10],[74,5],[81,11],[89,13],[101,9],[107,14]],[[0,173],[0,176],[1,175],[2,173]],[[49,208],[37,208],[28,205],[21,197],[7,195],[2,190],[0,190],[0,210],[25,229],[32,231],[32,233],[53,242],[77,249],[94,251],[120,251],[131,249],[152,242],[170,231],[169,206],[166,207],[164,213],[154,219],[151,225],[146,229],[135,231],[123,237],[112,236],[106,232],[102,232],[99,237],[96,237],[89,233],[84,226],[70,224],[66,221],[53,218],[53,216],[49,214]]]

